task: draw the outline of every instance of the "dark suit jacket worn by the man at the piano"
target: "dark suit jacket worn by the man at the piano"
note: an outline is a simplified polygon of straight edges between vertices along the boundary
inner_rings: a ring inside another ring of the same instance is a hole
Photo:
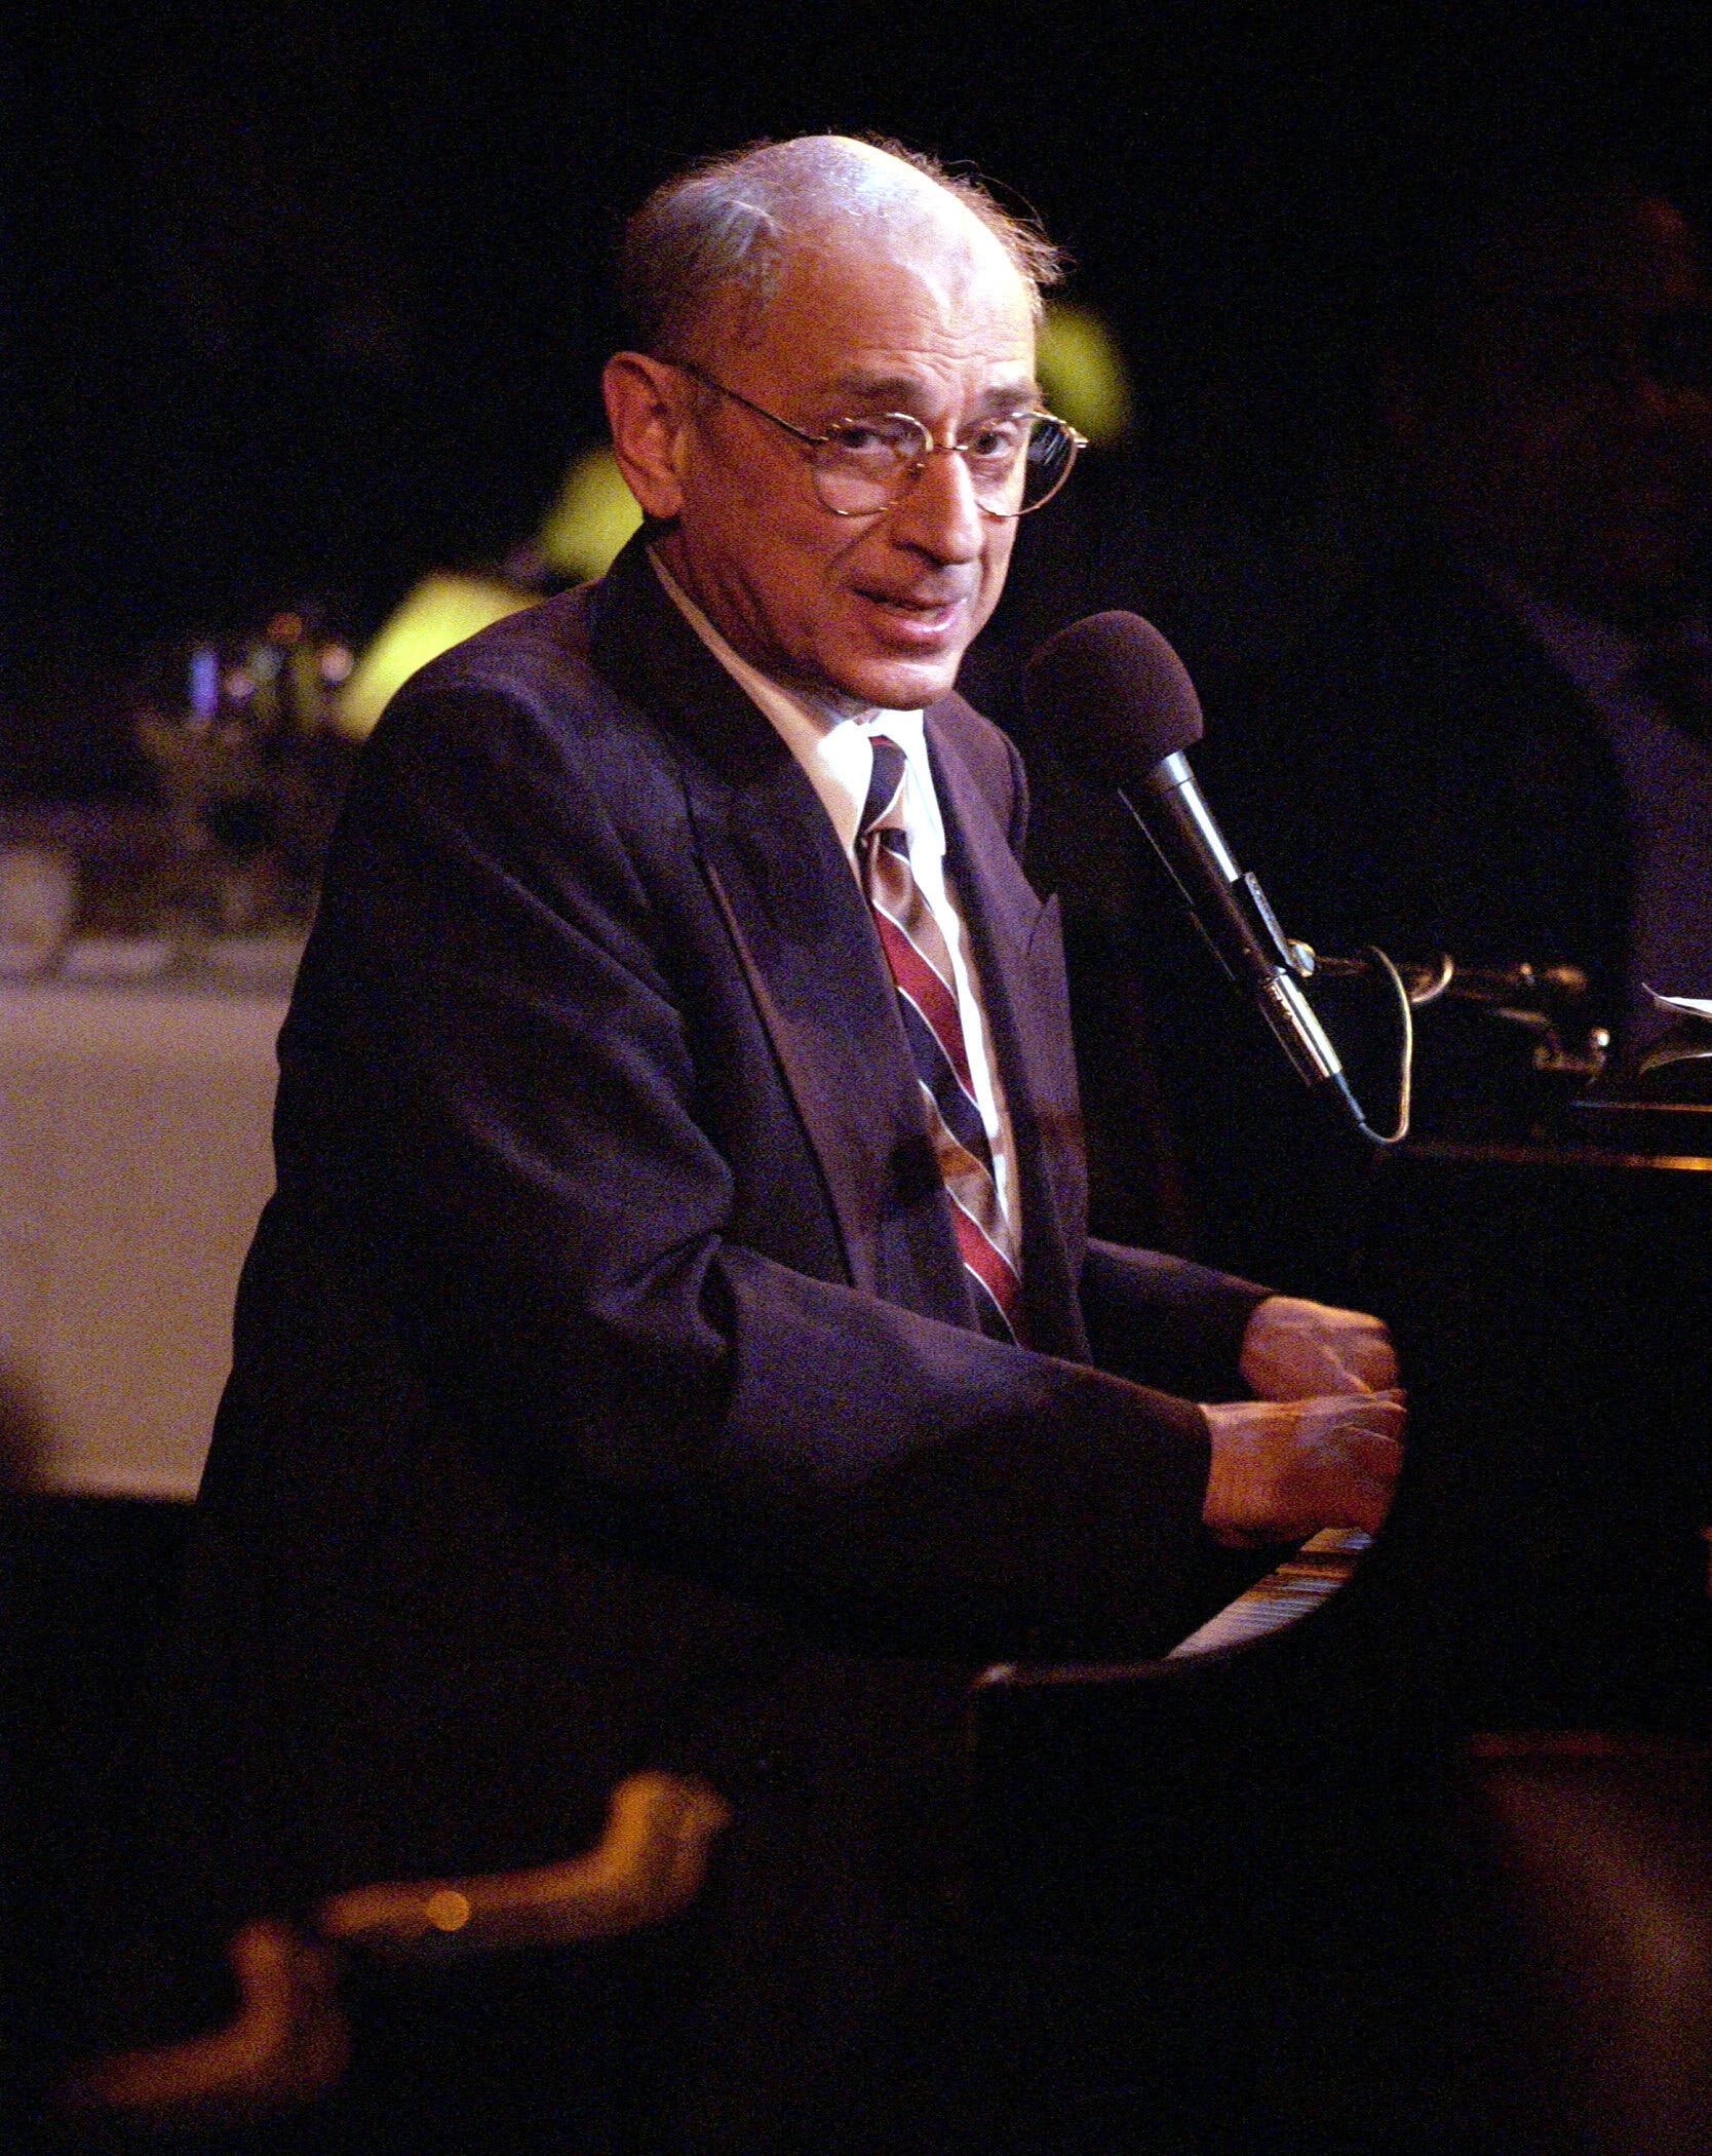
[[[955,696],[927,740],[1031,1350],[977,1330],[837,837],[640,552],[382,720],[280,1039],[155,1716],[155,1876],[211,1932],[539,1861],[623,1772],[696,1768],[740,1813],[714,1960],[729,1990],[770,1938],[744,1981],[778,2014],[787,1934],[869,1981],[875,1893],[906,1927],[931,1902],[972,1664],[1173,1630],[1205,1427],[1089,1365],[1231,1393],[1259,1289],[1087,1244],[1022,770]]]

